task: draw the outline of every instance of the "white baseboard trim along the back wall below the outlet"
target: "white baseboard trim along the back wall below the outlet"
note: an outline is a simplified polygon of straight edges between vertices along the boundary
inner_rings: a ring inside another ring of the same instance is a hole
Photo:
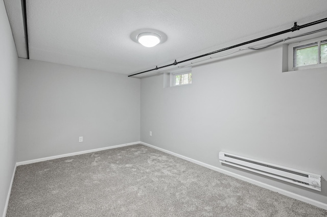
[[[79,152],[73,152],[73,153],[68,153],[68,154],[43,157],[43,158],[38,158],[38,159],[34,159],[34,160],[26,160],[26,161],[17,162],[16,166],[33,164],[35,162],[40,162],[40,161],[45,161],[45,160],[52,160],[52,159],[57,159],[57,158],[61,158],[61,157],[69,157],[69,156],[79,155],[79,154],[87,154],[87,153],[91,153],[91,152],[103,151],[103,150],[112,149],[112,148],[120,148],[120,147],[124,147],[124,146],[136,145],[136,144],[141,144],[141,142],[126,143],[126,144],[109,146],[109,147],[104,147],[104,148],[97,148],[97,149],[91,149],[91,150],[86,150],[86,151],[79,151]]]

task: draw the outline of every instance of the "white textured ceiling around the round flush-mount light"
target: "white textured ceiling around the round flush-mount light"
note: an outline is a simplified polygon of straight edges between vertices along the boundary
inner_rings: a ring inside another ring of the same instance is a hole
[[[29,53],[34,60],[131,74],[325,18],[326,11],[325,0],[33,0],[27,1]],[[143,47],[130,38],[139,29],[168,39]]]

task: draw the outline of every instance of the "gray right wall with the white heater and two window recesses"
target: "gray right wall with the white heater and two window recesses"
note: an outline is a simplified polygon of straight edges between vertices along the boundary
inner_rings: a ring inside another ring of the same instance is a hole
[[[142,78],[141,141],[327,203],[326,68],[282,73],[282,47]],[[149,136],[152,131],[152,137]],[[221,165],[219,151],[322,175],[322,192]]]

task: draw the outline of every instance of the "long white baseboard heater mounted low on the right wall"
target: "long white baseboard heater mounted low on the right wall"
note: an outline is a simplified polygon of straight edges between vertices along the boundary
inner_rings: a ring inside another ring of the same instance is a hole
[[[241,157],[235,154],[219,152],[219,160],[223,164],[249,170],[283,181],[309,187],[321,192],[321,176],[287,167],[282,167],[259,160]]]

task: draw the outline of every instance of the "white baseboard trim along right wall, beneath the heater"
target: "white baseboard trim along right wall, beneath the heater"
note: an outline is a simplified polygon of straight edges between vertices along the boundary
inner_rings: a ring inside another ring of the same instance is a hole
[[[203,167],[206,167],[208,169],[211,169],[211,170],[214,170],[214,171],[217,171],[217,172],[220,172],[220,173],[223,173],[223,174],[226,174],[228,176],[232,176],[234,178],[238,178],[238,179],[241,179],[243,181],[246,181],[246,182],[249,182],[251,184],[255,184],[255,185],[258,185],[260,187],[264,187],[266,189],[269,189],[273,192],[278,192],[279,194],[282,194],[282,195],[285,195],[285,196],[288,196],[290,198],[294,198],[296,200],[299,200],[299,201],[303,201],[303,202],[306,202],[306,203],[309,203],[311,205],[314,205],[314,206],[317,206],[319,208],[322,208],[322,209],[326,209],[327,210],[327,204],[325,203],[322,203],[320,201],[316,201],[316,200],[313,200],[313,199],[310,199],[310,198],[307,198],[307,197],[304,197],[304,196],[301,196],[301,195],[298,195],[298,194],[294,194],[292,192],[289,192],[289,191],[286,191],[282,188],[278,188],[278,187],[274,187],[272,185],[269,185],[269,184],[266,184],[266,183],[263,183],[263,182],[260,182],[260,181],[256,181],[254,179],[250,179],[250,178],[247,178],[245,176],[241,176],[241,175],[238,175],[236,173],[232,173],[232,172],[229,172],[227,170],[223,170],[223,169],[220,169],[218,167],[215,167],[215,166],[212,166],[212,165],[208,165],[208,164],[205,164],[204,162],[201,162],[201,161],[198,161],[198,160],[195,160],[195,159],[192,159],[190,157],[185,157],[183,155],[180,155],[180,154],[177,154],[175,152],[172,152],[172,151],[168,151],[166,149],[163,149],[163,148],[159,148],[159,147],[156,147],[156,146],[153,146],[153,145],[150,145],[148,143],[144,143],[144,142],[140,142],[142,145],[145,145],[145,146],[148,146],[150,148],[154,148],[154,149],[157,149],[159,151],[162,151],[162,152],[166,152],[168,154],[171,154],[171,155],[174,155],[176,157],[179,157],[179,158],[182,158],[184,160],[188,160],[190,162],[193,162],[194,164],[197,164],[197,165],[200,165],[200,166],[203,166]]]

